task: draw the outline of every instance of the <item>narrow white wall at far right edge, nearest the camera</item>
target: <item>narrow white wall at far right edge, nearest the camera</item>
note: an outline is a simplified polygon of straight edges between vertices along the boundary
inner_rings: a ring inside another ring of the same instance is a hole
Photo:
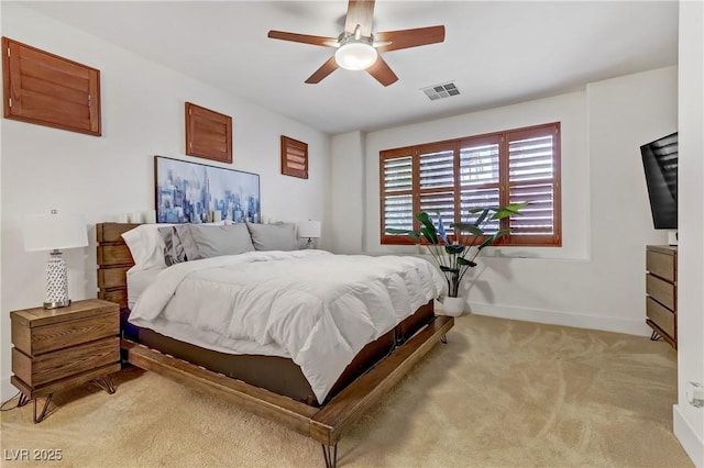
[[[688,403],[690,381],[704,382],[704,3],[680,2],[678,381],[673,428],[704,467],[704,409]]]

